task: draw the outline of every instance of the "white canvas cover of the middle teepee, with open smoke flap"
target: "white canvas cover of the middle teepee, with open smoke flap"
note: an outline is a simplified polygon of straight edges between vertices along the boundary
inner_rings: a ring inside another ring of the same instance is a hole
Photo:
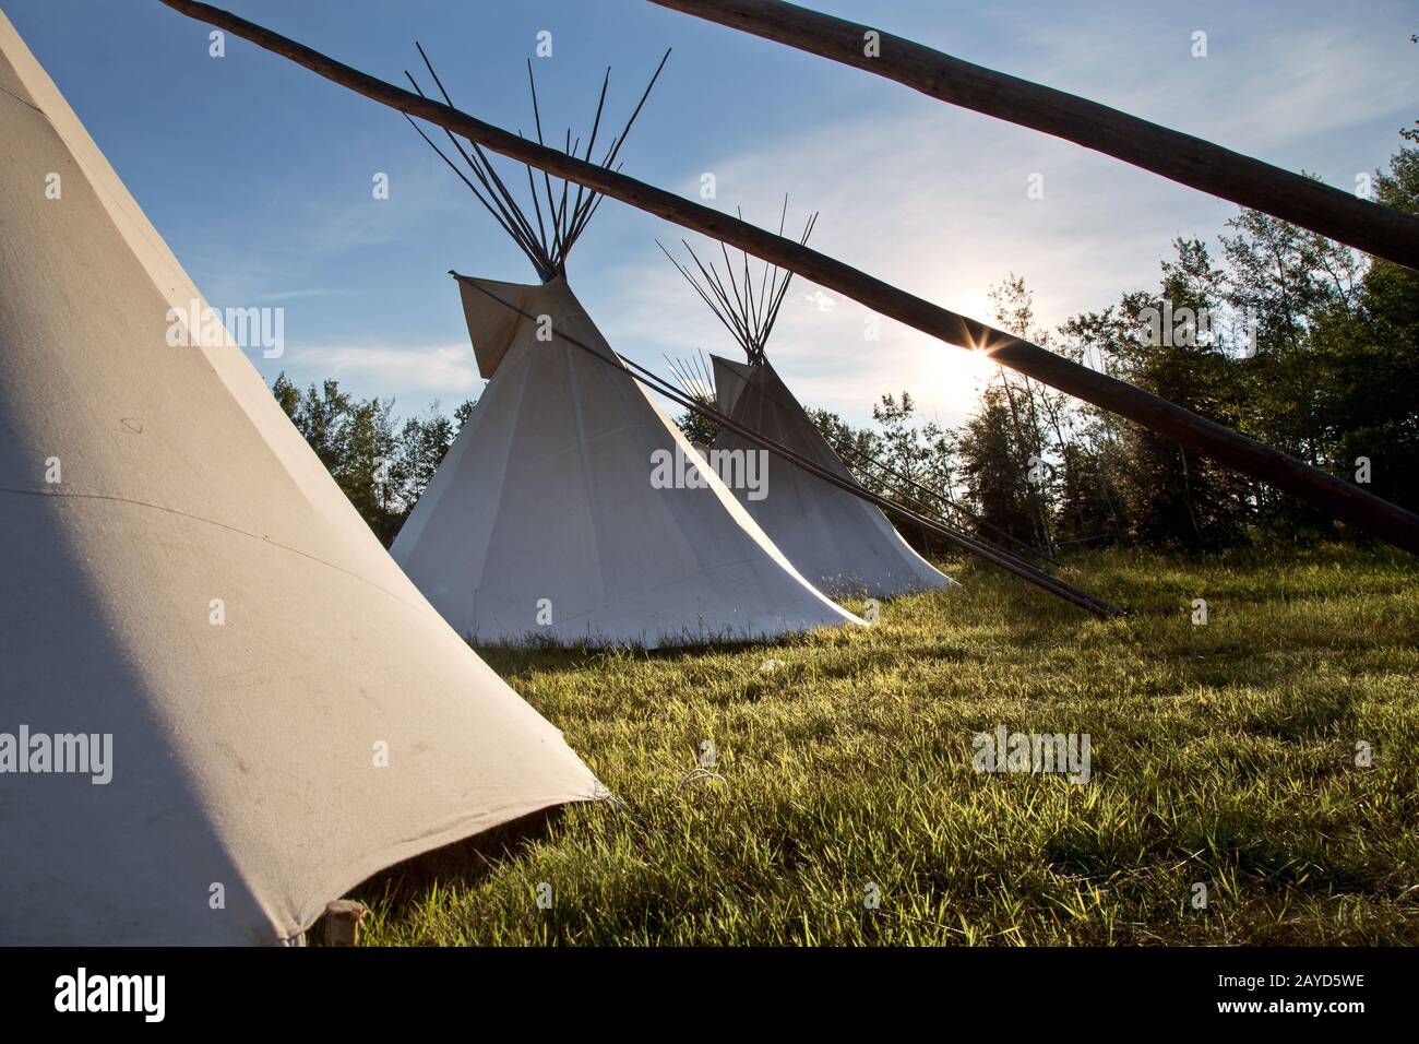
[[[694,449],[620,364],[563,276],[460,277],[490,384],[392,554],[477,641],[758,639],[858,622],[812,588],[724,483],[656,487]],[[553,337],[518,314],[551,317]],[[596,349],[586,349],[558,334]]]

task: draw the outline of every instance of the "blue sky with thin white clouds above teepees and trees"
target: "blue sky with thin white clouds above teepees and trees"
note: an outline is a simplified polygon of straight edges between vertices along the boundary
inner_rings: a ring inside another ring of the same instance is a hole
[[[641,0],[227,0],[228,10],[383,80],[430,51],[464,109],[528,128],[525,60],[543,122],[583,134],[612,65],[610,119],[674,47],[623,155],[626,172],[790,224],[819,210],[813,246],[958,311],[1023,276],[1047,324],[1151,283],[1174,236],[1215,239],[1235,213],[1077,146]],[[1352,187],[1419,116],[1412,3],[1015,3],[815,0],[951,54],[1122,108]],[[448,268],[532,281],[526,260],[392,109],[244,41],[207,54],[209,27],[156,0],[0,0],[128,187],[217,307],[285,308],[270,382],[336,376],[396,410],[451,409],[481,386]],[[1186,9],[1186,10],[1183,10]],[[1191,55],[1192,34],[1208,55]],[[507,168],[505,168],[507,169]],[[376,200],[372,178],[389,175]],[[1027,199],[1032,173],[1044,197]],[[518,170],[521,173],[521,170]],[[525,178],[524,178],[525,180]],[[613,345],[735,355],[654,240],[680,230],[607,200],[569,264]],[[691,239],[697,246],[701,243]],[[956,423],[979,359],[893,322],[867,341],[853,301],[795,283],[771,358],[799,398],[864,422],[910,389]]]

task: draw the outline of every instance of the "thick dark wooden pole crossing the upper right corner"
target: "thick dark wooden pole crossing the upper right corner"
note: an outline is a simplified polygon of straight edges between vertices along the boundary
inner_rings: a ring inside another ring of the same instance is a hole
[[[783,0],[651,0],[1063,138],[1376,257],[1419,268],[1419,217],[1051,87]],[[868,36],[874,34],[874,36]]]

